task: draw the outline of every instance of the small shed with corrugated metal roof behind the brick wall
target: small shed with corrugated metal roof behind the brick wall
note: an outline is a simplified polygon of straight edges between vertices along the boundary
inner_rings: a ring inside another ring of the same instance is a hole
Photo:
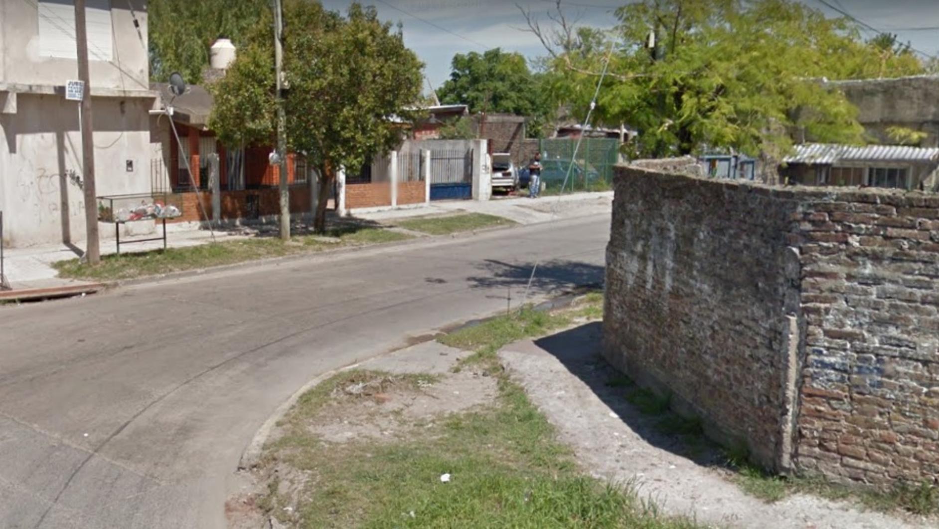
[[[939,148],[798,144],[779,174],[791,184],[937,190]]]

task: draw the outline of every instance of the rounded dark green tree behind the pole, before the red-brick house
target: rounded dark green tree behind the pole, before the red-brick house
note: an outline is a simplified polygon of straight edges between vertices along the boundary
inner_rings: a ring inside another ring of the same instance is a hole
[[[316,168],[316,231],[326,230],[329,189],[339,168],[362,167],[401,137],[394,116],[411,117],[421,93],[422,63],[404,45],[400,28],[378,20],[358,3],[347,17],[307,0],[284,4],[287,144]],[[209,126],[225,144],[270,142],[276,123],[271,17],[225,77],[212,86]]]

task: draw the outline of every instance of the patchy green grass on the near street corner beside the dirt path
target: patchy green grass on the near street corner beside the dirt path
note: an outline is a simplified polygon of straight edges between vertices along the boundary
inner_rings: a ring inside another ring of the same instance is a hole
[[[546,417],[499,369],[495,351],[502,345],[568,325],[582,308],[522,310],[442,337],[476,352],[474,361],[494,373],[497,400],[414,425],[405,441],[326,444],[304,425],[349,385],[413,388],[438,379],[346,371],[303,395],[285,417],[287,434],[267,455],[269,464],[287,464],[308,476],[291,521],[311,528],[695,527],[659,515],[627,488],[582,474]],[[450,483],[440,482],[444,473],[452,476]],[[286,521],[286,491],[276,478],[270,483],[258,505]]]

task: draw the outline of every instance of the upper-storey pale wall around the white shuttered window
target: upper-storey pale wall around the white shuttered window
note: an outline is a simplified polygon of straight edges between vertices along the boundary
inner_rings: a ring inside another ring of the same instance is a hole
[[[112,1],[114,58],[101,61],[89,54],[90,76],[96,88],[149,90],[146,0]],[[132,6],[141,25],[133,25]],[[74,60],[41,57],[38,52],[38,7],[33,0],[0,2],[0,83],[64,85],[78,76]]]

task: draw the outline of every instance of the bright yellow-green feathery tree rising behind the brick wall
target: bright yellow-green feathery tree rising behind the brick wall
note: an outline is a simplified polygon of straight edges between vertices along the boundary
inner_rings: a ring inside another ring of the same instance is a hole
[[[643,0],[616,13],[613,47],[555,48],[548,85],[582,115],[608,57],[596,118],[638,128],[638,156],[716,148],[778,159],[793,137],[859,144],[856,109],[821,81],[922,68],[904,53],[882,61],[854,23],[791,0]]]

